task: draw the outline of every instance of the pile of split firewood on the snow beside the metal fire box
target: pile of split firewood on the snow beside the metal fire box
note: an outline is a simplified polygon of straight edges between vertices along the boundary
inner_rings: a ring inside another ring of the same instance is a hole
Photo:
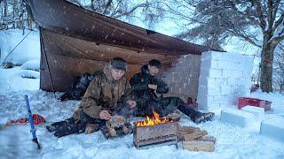
[[[193,126],[177,127],[177,140],[182,141],[184,149],[190,151],[214,151],[216,138],[209,136],[207,131]]]

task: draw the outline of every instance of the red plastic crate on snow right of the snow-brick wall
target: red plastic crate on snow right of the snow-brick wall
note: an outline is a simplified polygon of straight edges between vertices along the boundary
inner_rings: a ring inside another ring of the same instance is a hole
[[[271,103],[272,102],[270,101],[265,101],[257,98],[240,97],[238,102],[238,108],[241,109],[242,107],[250,105],[264,108],[264,110],[266,111],[271,109]]]

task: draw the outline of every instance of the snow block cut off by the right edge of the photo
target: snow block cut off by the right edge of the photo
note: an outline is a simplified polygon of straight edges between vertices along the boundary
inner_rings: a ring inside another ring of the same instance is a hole
[[[271,118],[261,122],[260,134],[284,142],[284,117]]]

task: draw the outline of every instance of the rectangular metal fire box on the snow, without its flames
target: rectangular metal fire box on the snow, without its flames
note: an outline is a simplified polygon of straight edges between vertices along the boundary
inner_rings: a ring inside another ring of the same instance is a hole
[[[134,123],[133,142],[137,148],[164,142],[177,144],[177,122],[143,127]]]

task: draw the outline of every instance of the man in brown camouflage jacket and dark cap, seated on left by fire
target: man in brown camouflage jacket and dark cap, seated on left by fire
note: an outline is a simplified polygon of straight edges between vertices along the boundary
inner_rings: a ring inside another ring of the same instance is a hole
[[[73,117],[47,126],[48,131],[55,132],[57,137],[93,133],[126,107],[135,108],[136,102],[130,98],[130,83],[124,76],[126,69],[127,63],[120,57],[114,57],[104,71],[91,80]]]

